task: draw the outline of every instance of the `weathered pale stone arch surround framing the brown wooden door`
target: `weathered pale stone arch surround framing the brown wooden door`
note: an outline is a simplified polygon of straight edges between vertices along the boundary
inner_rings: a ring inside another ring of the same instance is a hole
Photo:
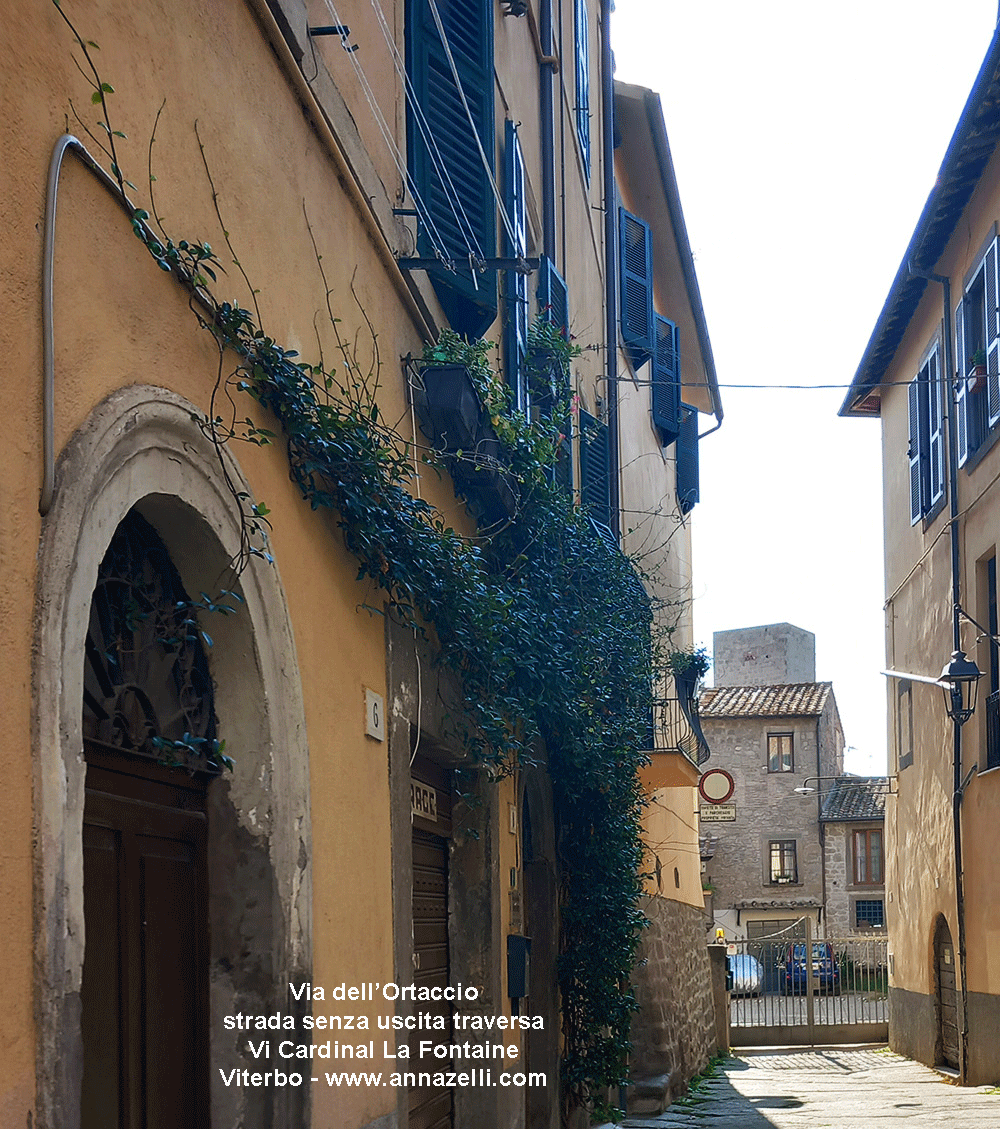
[[[211,592],[238,545],[218,456],[164,388],[100,403],[63,452],[38,554],[34,671],[37,1124],[79,1123],[84,962],[81,701],[90,594],[107,544],[133,507],[165,542],[185,587]],[[235,460],[227,471],[249,491]],[[231,586],[231,585],[230,585]],[[219,735],[237,762],[210,786],[212,1067],[242,1066],[235,1010],[289,1009],[288,981],[312,968],[312,835],[301,685],[278,569],[240,577],[239,614],[213,622],[209,665]],[[225,881],[220,881],[225,877]],[[212,1118],[247,1129],[293,1123],[301,1095],[227,1089]],[[248,1096],[246,1096],[248,1095]]]

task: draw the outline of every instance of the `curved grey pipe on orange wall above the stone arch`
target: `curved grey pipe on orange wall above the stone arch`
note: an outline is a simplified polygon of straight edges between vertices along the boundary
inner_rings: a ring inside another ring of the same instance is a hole
[[[53,273],[55,261],[55,209],[59,202],[59,174],[62,158],[73,152],[94,173],[121,204],[129,219],[135,209],[122,192],[117,181],[87,151],[72,133],[63,133],[52,149],[49,161],[49,185],[45,191],[45,235],[42,250],[42,493],[38,513],[44,517],[55,493],[55,330],[53,325]]]

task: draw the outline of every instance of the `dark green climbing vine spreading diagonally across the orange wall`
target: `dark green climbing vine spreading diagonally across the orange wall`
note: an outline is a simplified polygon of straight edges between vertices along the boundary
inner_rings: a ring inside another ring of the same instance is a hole
[[[93,64],[95,45],[67,23],[99,113],[97,131],[87,132],[112,161],[128,201],[131,185],[115,149],[123,135],[112,129],[108,106],[114,91]],[[211,182],[208,160],[205,172]],[[214,184],[212,193],[218,211]],[[358,562],[358,579],[383,592],[387,614],[424,631],[438,662],[459,680],[465,710],[456,724],[472,763],[499,778],[534,763],[544,750],[562,883],[562,1080],[570,1105],[603,1109],[606,1089],[626,1078],[635,1008],[629,980],[643,927],[638,769],[649,745],[653,640],[635,568],[554,473],[561,429],[573,418],[567,377],[576,345],[544,318],[533,326],[530,377],[552,395],[534,421],[514,410],[488,343],[442,331],[427,350],[431,361],[462,355],[516,484],[510,520],[467,539],[412,489],[419,438],[401,436],[380,412],[375,327],[368,324],[367,365],[341,339],[318,250],[339,365],[322,350],[309,362],[283,348],[262,326],[255,298],[252,312],[217,297],[219,255],[203,240],[172,238],[150,209],[133,208],[133,230],[187,289],[218,349],[212,406],[201,421],[205,434],[220,453],[235,440],[283,443],[304,500],[333,516]],[[242,272],[228,231],[226,243]],[[267,413],[270,428],[244,413],[246,400]],[[428,447],[420,457],[437,456]],[[244,530],[238,570],[254,555],[270,560],[269,510],[230,488]]]

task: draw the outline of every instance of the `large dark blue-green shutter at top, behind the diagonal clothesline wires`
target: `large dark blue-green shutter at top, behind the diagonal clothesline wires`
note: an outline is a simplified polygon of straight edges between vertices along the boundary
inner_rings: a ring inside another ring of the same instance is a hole
[[[483,161],[485,154],[492,163],[494,151],[493,6],[436,0],[436,8],[444,38],[429,0],[406,5],[406,72],[415,102],[406,147],[421,213],[418,250],[454,264],[432,269],[431,282],[453,327],[481,336],[497,317],[495,275],[472,265],[497,254],[491,170]]]

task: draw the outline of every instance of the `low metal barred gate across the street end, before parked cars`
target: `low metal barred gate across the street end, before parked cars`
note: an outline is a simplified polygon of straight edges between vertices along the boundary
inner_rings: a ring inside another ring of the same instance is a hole
[[[808,918],[729,945],[734,1047],[886,1042],[887,939],[814,936]]]

